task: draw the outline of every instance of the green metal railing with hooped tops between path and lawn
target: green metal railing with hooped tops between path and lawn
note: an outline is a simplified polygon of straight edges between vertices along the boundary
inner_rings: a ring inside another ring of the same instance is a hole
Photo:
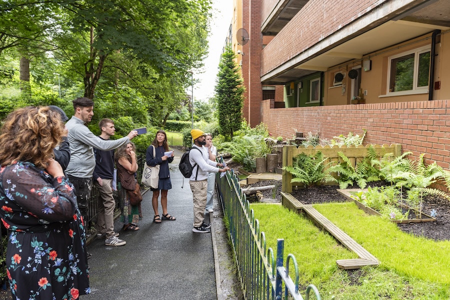
[[[222,160],[223,162],[223,160]],[[264,232],[259,231],[259,221],[239,185],[239,178],[231,172],[216,175],[217,195],[228,221],[228,231],[240,278],[242,293],[246,300],[303,300],[298,291],[298,266],[289,254],[283,267],[284,240],[278,239],[276,260],[271,248],[266,249]],[[289,277],[289,264],[295,268],[295,282]],[[284,293],[283,293],[284,287]],[[313,285],[306,288],[315,299],[320,295]]]

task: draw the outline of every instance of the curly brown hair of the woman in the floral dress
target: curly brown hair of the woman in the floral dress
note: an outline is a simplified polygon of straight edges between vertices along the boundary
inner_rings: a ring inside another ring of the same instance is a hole
[[[61,142],[64,124],[48,106],[27,106],[9,113],[0,130],[0,165],[15,161],[45,169],[53,149]]]

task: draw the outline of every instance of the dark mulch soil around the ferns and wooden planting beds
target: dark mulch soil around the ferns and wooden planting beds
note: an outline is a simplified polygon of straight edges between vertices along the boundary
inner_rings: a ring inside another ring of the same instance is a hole
[[[277,180],[264,180],[250,184],[250,187],[275,185],[275,191],[261,191],[264,198],[273,198],[281,201],[281,182]],[[371,183],[370,186],[380,186],[382,183]],[[349,187],[357,188],[357,187]],[[292,190],[291,195],[303,204],[317,204],[330,202],[347,202],[348,200],[339,194],[338,186],[312,186]],[[450,201],[440,197],[426,197],[423,201],[422,212],[430,215],[431,210],[436,212],[436,221],[421,223],[397,224],[398,228],[406,233],[422,236],[435,241],[450,240]]]

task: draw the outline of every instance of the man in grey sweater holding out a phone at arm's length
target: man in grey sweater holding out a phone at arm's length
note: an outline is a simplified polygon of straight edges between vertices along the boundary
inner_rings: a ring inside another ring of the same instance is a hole
[[[93,147],[103,151],[115,149],[129,143],[129,140],[137,135],[137,131],[131,130],[127,136],[117,140],[102,140],[84,125],[92,119],[93,101],[81,97],[76,98],[72,103],[74,114],[65,124],[70,144],[70,162],[65,172],[75,188],[76,201],[86,228],[87,209],[92,190],[92,173],[95,169]]]

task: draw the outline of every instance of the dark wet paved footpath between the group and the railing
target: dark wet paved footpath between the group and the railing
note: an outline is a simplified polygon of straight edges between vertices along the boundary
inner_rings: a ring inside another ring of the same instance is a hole
[[[82,300],[216,300],[211,233],[193,233],[192,193],[189,180],[178,170],[182,152],[175,151],[170,165],[172,189],[167,210],[176,221],[153,223],[152,192],[143,194],[139,230],[121,231],[126,245],[105,246],[93,240],[88,246],[91,293]],[[159,204],[159,214],[162,209]],[[209,222],[206,214],[205,221]]]

